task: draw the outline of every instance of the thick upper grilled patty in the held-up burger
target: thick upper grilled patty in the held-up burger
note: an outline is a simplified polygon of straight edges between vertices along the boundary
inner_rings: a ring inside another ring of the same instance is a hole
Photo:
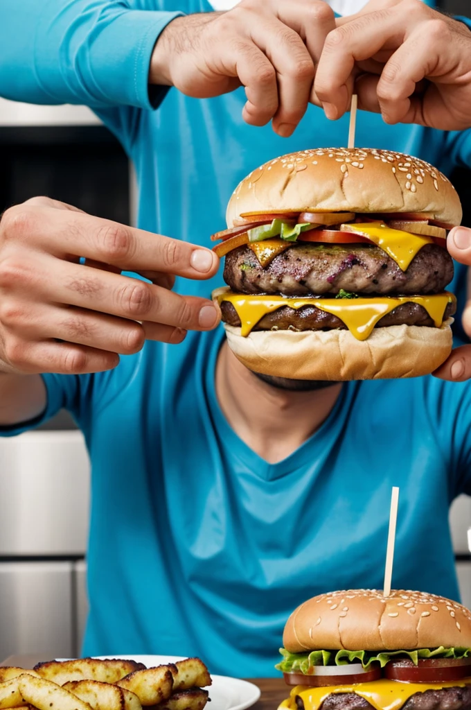
[[[260,265],[248,246],[226,256],[224,280],[239,293],[286,296],[336,295],[341,288],[360,294],[440,293],[453,279],[453,260],[445,249],[427,244],[406,271],[378,246],[298,243]]]

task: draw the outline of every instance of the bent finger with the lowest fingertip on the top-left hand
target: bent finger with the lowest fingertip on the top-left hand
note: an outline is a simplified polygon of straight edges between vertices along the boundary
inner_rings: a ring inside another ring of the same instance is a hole
[[[277,72],[279,106],[273,129],[286,138],[306,113],[314,62],[299,34],[279,21],[253,23],[251,32]]]

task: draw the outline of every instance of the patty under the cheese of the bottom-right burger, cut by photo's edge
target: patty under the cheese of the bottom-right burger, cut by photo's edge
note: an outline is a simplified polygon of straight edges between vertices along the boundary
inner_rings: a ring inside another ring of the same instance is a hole
[[[296,704],[299,710],[304,710],[302,699],[297,696]],[[442,688],[441,690],[426,690],[412,695],[401,710],[470,710],[471,687]],[[320,710],[374,710],[373,706],[355,693],[338,693],[329,695],[321,705]]]

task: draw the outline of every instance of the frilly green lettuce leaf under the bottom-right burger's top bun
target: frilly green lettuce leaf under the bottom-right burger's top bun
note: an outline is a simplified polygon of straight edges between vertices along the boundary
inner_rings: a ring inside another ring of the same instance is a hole
[[[347,665],[348,663],[360,662],[364,668],[370,667],[372,663],[379,663],[383,668],[392,658],[408,657],[417,665],[419,658],[467,658],[471,655],[471,648],[419,648],[408,651],[349,651],[341,649],[339,651],[311,651],[310,653],[290,653],[285,648],[280,648],[282,660],[275,668],[284,673],[297,672],[309,675],[309,669],[316,665]]]

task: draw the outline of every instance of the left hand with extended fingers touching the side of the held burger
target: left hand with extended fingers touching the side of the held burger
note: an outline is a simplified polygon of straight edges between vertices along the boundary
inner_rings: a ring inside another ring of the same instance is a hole
[[[174,275],[204,279],[217,267],[209,249],[45,197],[12,207],[0,222],[0,376],[98,372],[146,338],[179,343],[187,329],[214,328],[210,300],[171,288]]]

